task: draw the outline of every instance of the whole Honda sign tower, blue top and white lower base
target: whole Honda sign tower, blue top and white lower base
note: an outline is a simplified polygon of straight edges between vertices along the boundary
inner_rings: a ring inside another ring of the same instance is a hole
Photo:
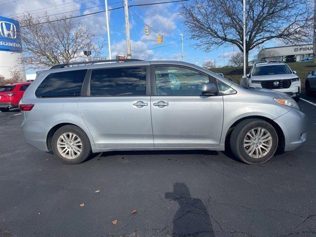
[[[0,76],[10,79],[12,72],[18,72],[25,80],[25,66],[21,59],[19,22],[0,16]]]

